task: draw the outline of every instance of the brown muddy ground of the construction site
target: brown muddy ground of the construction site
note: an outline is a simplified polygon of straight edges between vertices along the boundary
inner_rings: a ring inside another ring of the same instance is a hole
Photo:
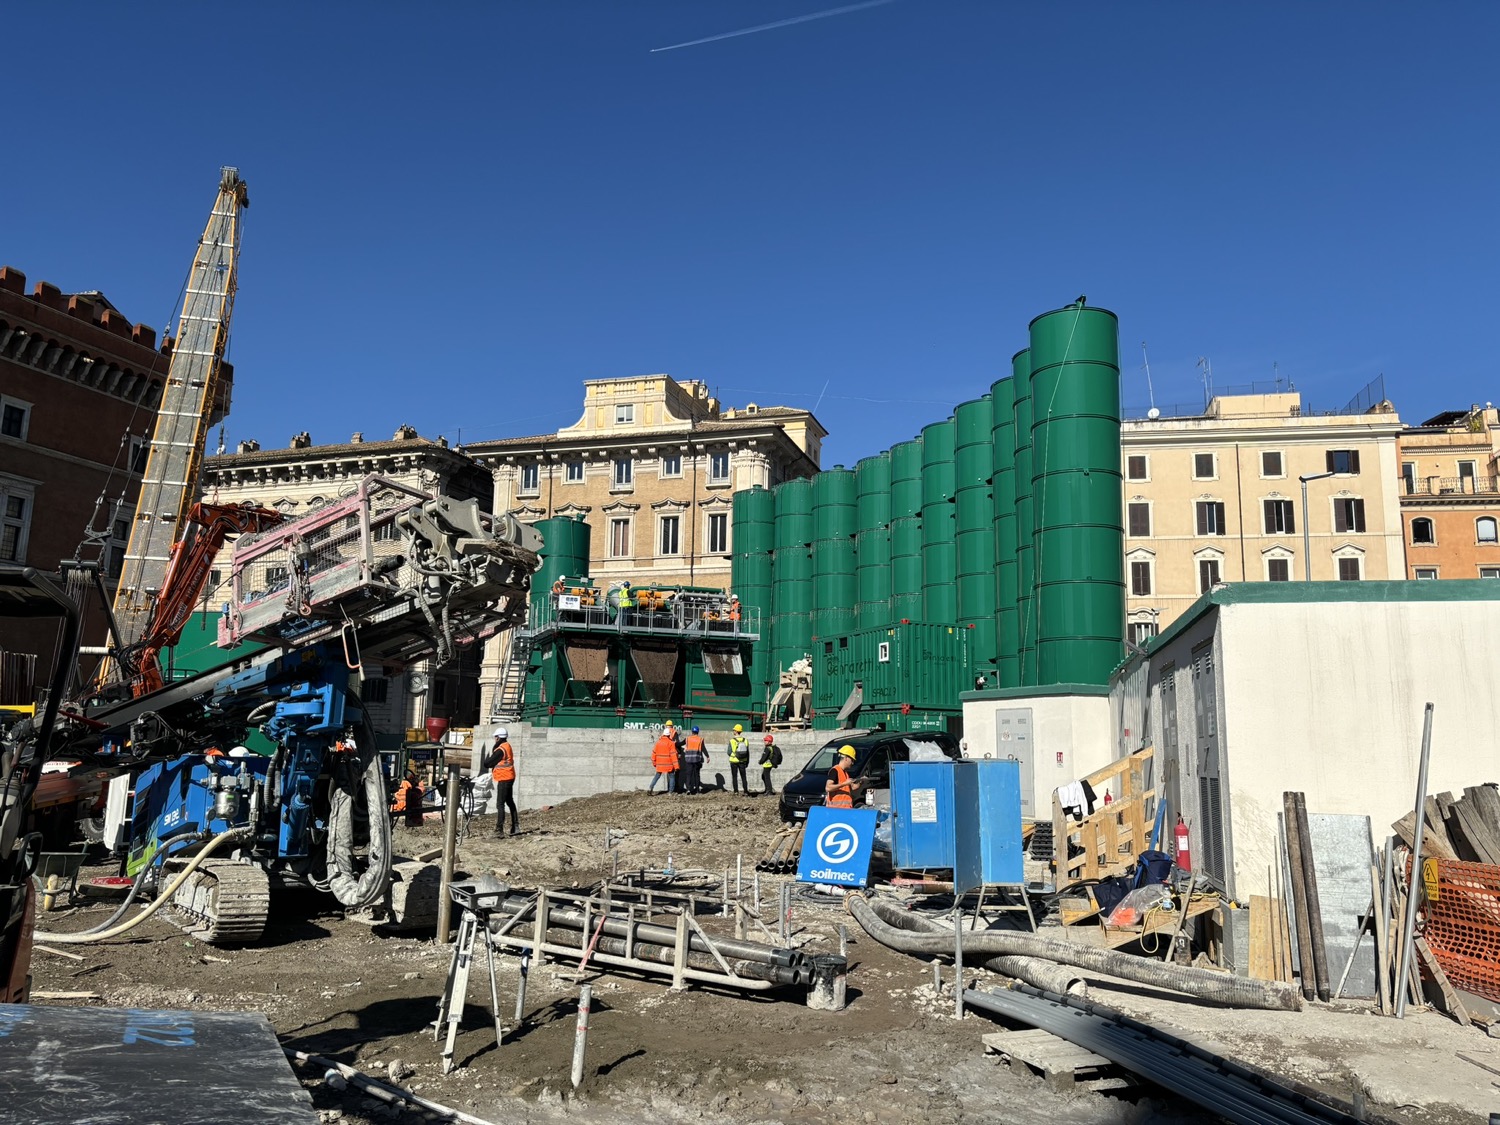
[[[490,824],[460,848],[460,867],[495,873],[513,886],[586,888],[608,874],[606,831],[615,830],[620,870],[699,870],[720,879],[744,858],[744,894],[754,860],[778,828],[772,801],[705,794],[608,794],[522,816],[522,834],[495,838]],[[396,848],[417,855],[441,844],[435,818],[420,830],[398,826]],[[790,876],[760,876],[765,920],[776,928],[776,896]],[[714,891],[717,894],[717,890]],[[39,928],[84,928],[111,906],[45,915]],[[726,924],[704,918],[711,932]],[[250,1010],[270,1018],[285,1047],[339,1059],[375,1077],[394,1065],[404,1084],[492,1122],[1188,1122],[1202,1114],[1154,1088],[1120,1098],[1059,1094],[1041,1078],[1012,1074],[986,1056],[981,1035],[996,1024],[960,1023],[951,994],[934,993],[927,962],[891,952],[860,933],[842,908],[794,900],[795,940],[810,952],[837,951],[837,927],[850,928],[849,1005],[813,1011],[802,990],[760,994],[688,988],[664,976],[584,975],[576,966],[532,968],[524,1023],[495,1047],[483,966],[471,981],[458,1041],[462,1068],[440,1072],[430,1022],[444,986],[448,948],[346,920],[332,898],[312,892],[273,897],[266,938],[218,950],[153,918],[136,940],[66,946],[72,962],[38,952],[34,988],[88,990],[111,1006]],[[951,978],[944,966],[945,982]],[[992,978],[993,981],[994,978]],[[576,999],[592,984],[592,1017],[582,1086],[568,1080]],[[514,1010],[518,962],[500,968],[501,1010]],[[981,975],[981,987],[984,980]],[[1107,982],[1098,982],[1108,988]],[[1108,994],[1101,994],[1113,1002]],[[1138,999],[1138,998],[1137,998]],[[1176,1005],[1186,1006],[1186,1005]],[[1210,1012],[1228,1028],[1236,1014]],[[1294,1017],[1293,1017],[1294,1018]],[[1284,1048],[1266,1042],[1275,1065]],[[1250,1036],[1257,1040],[1257,1036]],[[1264,1036],[1260,1036],[1264,1038]],[[1330,1071],[1338,1086],[1336,1066]],[[324,1119],[418,1122],[360,1095],[320,1083],[303,1068]],[[1302,1076],[1312,1082],[1318,1074]],[[1328,1077],[1324,1074],[1323,1077]],[[1426,1114],[1430,1120],[1449,1120]],[[1461,1118],[1454,1118],[1461,1119]]]

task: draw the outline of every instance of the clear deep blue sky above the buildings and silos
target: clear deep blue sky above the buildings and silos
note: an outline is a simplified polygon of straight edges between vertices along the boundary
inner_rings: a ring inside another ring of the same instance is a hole
[[[824,464],[1120,316],[1125,399],[1494,388],[1500,6],[555,0],[12,6],[0,261],[172,312],[250,186],[228,440],[578,418],[669,372]]]

